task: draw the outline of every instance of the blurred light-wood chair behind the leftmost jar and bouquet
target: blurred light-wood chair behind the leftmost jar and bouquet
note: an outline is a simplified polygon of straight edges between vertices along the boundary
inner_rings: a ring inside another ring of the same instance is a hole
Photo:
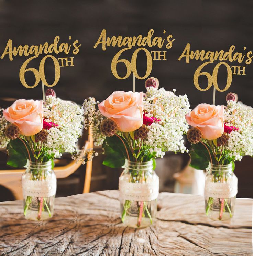
[[[92,128],[89,128],[88,131],[88,140],[84,142],[84,148],[93,148],[93,136]],[[88,155],[90,157],[90,155]],[[80,166],[82,162],[79,161],[76,163],[76,160],[70,161],[69,164],[65,166],[58,166],[54,168],[54,172],[57,179],[66,178],[70,174],[74,173]],[[0,170],[0,185],[8,188],[16,200],[22,200],[22,188],[21,188],[21,176],[24,172],[24,169],[17,170]],[[92,161],[88,161],[86,164],[86,173],[85,173],[85,182],[83,193],[88,193],[90,191],[90,182],[91,182],[91,173],[92,173]]]

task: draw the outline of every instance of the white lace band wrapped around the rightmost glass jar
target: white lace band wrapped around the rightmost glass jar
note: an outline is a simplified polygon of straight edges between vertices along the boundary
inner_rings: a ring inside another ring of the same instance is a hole
[[[205,196],[213,198],[231,198],[237,194],[237,178],[227,182],[206,181]]]

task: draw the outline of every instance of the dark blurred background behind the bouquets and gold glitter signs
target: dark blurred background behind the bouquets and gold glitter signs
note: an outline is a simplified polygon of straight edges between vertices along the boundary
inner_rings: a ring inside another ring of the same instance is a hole
[[[95,97],[102,101],[115,90],[132,90],[132,75],[124,80],[118,80],[111,72],[113,56],[122,48],[107,47],[102,51],[101,45],[93,47],[97,42],[102,29],[107,30],[107,36],[146,36],[150,29],[154,29],[154,36],[165,37],[173,35],[173,47],[148,48],[152,51],[167,51],[167,60],[153,61],[150,76],[157,77],[160,86],[166,90],[177,89],[177,94],[186,93],[194,108],[201,102],[212,103],[212,88],[208,91],[199,91],[193,83],[194,72],[203,62],[191,60],[189,64],[185,58],[177,59],[183,52],[187,43],[191,50],[228,51],[235,45],[235,52],[253,51],[252,11],[253,2],[245,1],[0,1],[0,53],[2,54],[8,39],[12,39],[13,46],[39,45],[44,42],[53,43],[55,36],[60,36],[60,42],[73,43],[79,40],[81,46],[79,53],[68,56],[64,54],[55,57],[74,57],[74,67],[62,67],[61,78],[53,87],[57,96],[62,99],[82,103],[87,97]],[[166,30],[165,35],[163,30]],[[72,40],[69,40],[72,36]],[[154,37],[153,36],[153,37]],[[246,50],[243,50],[243,47]],[[124,52],[121,57],[131,60],[132,53],[137,47]],[[28,67],[39,68],[40,60],[44,55],[31,61]],[[10,105],[18,98],[41,99],[41,83],[32,89],[25,88],[19,80],[19,70],[29,57],[17,56],[10,61],[6,55],[0,59],[1,107]],[[205,71],[212,73],[218,62],[208,65]],[[252,104],[252,65],[241,65],[238,62],[228,62],[230,66],[247,66],[246,75],[233,75],[232,85],[226,92],[216,93],[216,104],[225,104],[228,92],[238,93],[239,100],[247,105]],[[144,76],[146,69],[146,56],[141,51],[137,58],[137,70]],[[125,75],[125,67],[117,66],[120,76]],[[30,73],[30,74],[29,74]],[[54,80],[54,66],[51,60],[46,61],[46,79],[48,83]],[[218,85],[225,87],[227,69],[222,65],[218,73]],[[34,83],[31,72],[26,73],[28,84]],[[144,90],[145,80],[136,79],[136,91]],[[206,87],[207,81],[199,79],[200,86]],[[8,99],[9,98],[9,99]],[[7,103],[8,102],[8,103]],[[175,156],[168,154],[175,159]],[[187,163],[187,155],[177,154],[176,168],[172,167],[167,173],[167,181],[171,183],[167,191],[173,190],[172,174],[180,171]],[[102,161],[102,160],[101,160]],[[239,177],[239,197],[253,197],[251,158],[245,158],[236,164],[235,173]],[[2,162],[4,165],[4,161]],[[91,190],[117,188],[117,177],[120,173],[108,171],[97,161],[93,169]],[[5,166],[3,166],[5,168]],[[100,170],[98,170],[100,168]],[[84,177],[83,168],[79,170],[79,178],[75,181],[79,190],[59,188],[57,191],[68,191],[61,196],[82,191],[80,177]],[[100,178],[96,179],[97,176]],[[159,170],[159,172],[161,172]],[[117,174],[116,174],[117,173]],[[112,179],[112,175],[115,175]],[[100,181],[98,181],[100,180]],[[114,181],[112,181],[114,180]],[[62,181],[63,182],[63,181]],[[65,181],[67,183],[67,181]],[[73,181],[73,184],[76,184]],[[99,183],[100,182],[100,183]],[[67,183],[68,184],[68,183]],[[77,188],[76,185],[75,188]],[[73,192],[74,191],[74,192]]]

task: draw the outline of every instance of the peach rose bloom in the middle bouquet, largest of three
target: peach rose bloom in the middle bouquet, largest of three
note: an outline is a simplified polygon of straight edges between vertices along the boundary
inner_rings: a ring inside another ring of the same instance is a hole
[[[98,108],[122,132],[135,131],[143,124],[143,92],[115,91]]]

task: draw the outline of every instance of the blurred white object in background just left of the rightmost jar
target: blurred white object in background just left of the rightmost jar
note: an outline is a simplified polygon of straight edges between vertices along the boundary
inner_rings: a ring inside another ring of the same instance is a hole
[[[190,163],[190,162],[189,162]],[[205,173],[203,170],[196,170],[188,165],[179,173],[175,173],[175,193],[204,195]]]

